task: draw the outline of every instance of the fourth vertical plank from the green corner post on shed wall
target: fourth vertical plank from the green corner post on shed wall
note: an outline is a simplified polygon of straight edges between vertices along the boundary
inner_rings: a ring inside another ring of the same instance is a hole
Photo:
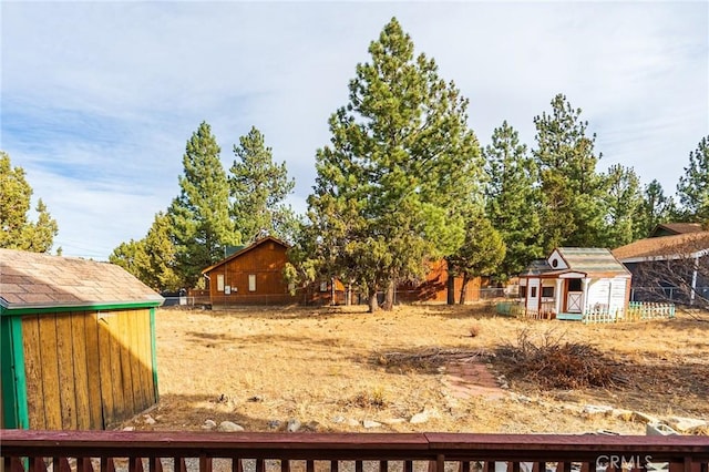
[[[91,429],[91,406],[89,400],[89,367],[86,353],[86,315],[83,311],[72,312],[71,339],[74,353],[74,394],[76,402],[76,428]]]

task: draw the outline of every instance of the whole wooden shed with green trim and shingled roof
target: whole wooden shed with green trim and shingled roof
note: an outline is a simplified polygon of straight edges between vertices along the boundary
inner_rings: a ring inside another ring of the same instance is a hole
[[[2,428],[105,429],[155,404],[162,301],[112,264],[0,249]]]

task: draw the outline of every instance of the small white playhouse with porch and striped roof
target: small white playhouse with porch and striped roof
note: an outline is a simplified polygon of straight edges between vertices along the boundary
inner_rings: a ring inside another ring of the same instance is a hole
[[[557,247],[520,274],[520,297],[528,316],[582,319],[588,310],[627,308],[630,273],[608,249]]]

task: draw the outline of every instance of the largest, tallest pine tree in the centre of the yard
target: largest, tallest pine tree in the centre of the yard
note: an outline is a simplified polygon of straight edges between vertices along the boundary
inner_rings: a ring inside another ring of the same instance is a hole
[[[330,117],[331,145],[317,152],[308,216],[326,270],[363,287],[373,311],[378,290],[422,277],[461,246],[461,208],[482,165],[467,101],[433,60],[414,58],[395,19],[369,53]]]

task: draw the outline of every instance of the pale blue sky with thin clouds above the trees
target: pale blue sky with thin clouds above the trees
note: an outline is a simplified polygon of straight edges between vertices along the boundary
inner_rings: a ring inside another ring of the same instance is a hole
[[[533,147],[533,119],[561,92],[597,134],[599,172],[633,166],[674,194],[709,133],[706,1],[6,0],[0,17],[0,148],[71,256],[105,259],[145,235],[202,121],[225,168],[258,127],[304,212],[328,117],[392,17],[470,99],[483,145],[507,120]]]

